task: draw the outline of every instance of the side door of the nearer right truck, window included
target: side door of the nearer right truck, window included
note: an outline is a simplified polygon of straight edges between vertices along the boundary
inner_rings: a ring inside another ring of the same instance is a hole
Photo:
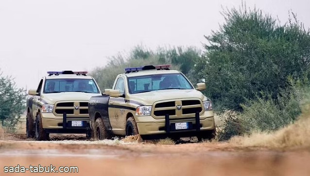
[[[125,82],[124,78],[119,77],[113,90],[120,90],[121,94],[125,94]],[[111,122],[111,127],[115,134],[122,135],[124,133],[124,123],[126,119],[125,114],[125,98],[124,97],[110,97],[109,99],[109,117]]]

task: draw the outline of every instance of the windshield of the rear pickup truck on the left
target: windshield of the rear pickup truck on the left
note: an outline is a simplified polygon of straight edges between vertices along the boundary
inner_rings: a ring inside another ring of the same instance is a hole
[[[45,81],[43,93],[85,92],[99,93],[92,79],[49,79]]]

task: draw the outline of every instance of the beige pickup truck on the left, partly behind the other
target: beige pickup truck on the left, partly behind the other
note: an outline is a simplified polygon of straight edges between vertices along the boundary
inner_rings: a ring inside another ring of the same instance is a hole
[[[27,97],[26,134],[48,140],[50,133],[85,133],[90,138],[88,100],[102,95],[87,72],[48,72]]]

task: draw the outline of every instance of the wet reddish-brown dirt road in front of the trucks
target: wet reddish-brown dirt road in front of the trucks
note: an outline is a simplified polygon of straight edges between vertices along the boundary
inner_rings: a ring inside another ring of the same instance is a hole
[[[310,148],[271,150],[228,143],[163,145],[81,136],[0,141],[0,176],[310,176]],[[63,140],[69,139],[69,140]],[[5,166],[78,166],[78,173],[4,173]]]

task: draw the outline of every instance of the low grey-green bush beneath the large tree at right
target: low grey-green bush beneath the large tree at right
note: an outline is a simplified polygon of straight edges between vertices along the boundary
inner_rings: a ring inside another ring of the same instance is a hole
[[[242,112],[222,115],[219,140],[253,131],[275,131],[292,124],[301,114],[305,100],[310,97],[310,85],[306,81],[291,79],[291,86],[280,91],[276,100],[271,95],[265,95],[242,104]]]

